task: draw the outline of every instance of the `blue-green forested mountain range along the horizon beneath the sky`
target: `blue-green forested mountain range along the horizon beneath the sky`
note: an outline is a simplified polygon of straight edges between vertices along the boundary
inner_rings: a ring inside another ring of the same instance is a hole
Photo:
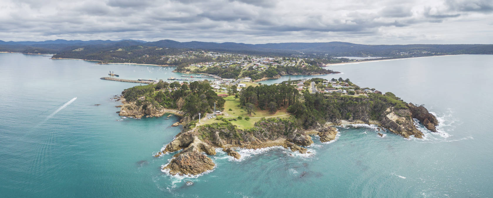
[[[111,50],[123,46],[155,46],[177,49],[203,49],[218,52],[292,55],[327,54],[330,56],[402,56],[403,54],[493,54],[493,44],[408,44],[408,45],[365,45],[350,42],[285,42],[246,44],[236,42],[178,42],[159,40],[46,40],[46,41],[2,41],[0,51],[23,53],[59,53],[87,46],[93,49]]]

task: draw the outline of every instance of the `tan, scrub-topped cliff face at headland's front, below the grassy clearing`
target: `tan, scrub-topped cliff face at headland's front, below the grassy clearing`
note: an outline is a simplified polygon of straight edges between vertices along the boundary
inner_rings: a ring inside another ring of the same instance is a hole
[[[247,130],[237,129],[230,123],[199,126],[194,130],[180,132],[155,157],[182,150],[163,169],[169,169],[170,174],[196,175],[214,168],[211,158],[202,154],[215,155],[214,148],[223,148],[229,156],[237,159],[241,155],[232,148],[283,146],[293,152],[307,153],[307,149],[302,146],[313,144],[312,138],[309,133],[293,126],[294,123],[286,119],[261,120]],[[335,128],[328,126],[320,127],[319,131],[317,134],[324,141],[333,140],[337,134]]]

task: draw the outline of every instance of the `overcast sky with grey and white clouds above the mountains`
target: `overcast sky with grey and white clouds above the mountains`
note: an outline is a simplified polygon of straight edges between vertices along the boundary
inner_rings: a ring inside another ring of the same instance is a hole
[[[493,44],[493,0],[0,0],[0,40]]]

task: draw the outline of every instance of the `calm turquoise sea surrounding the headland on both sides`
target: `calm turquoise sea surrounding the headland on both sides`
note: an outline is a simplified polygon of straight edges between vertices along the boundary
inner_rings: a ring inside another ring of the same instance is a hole
[[[109,70],[180,76],[171,68],[0,53],[1,197],[492,197],[492,63],[461,55],[331,66],[344,74],[320,77],[426,104],[444,134],[406,140],[339,128],[330,144],[314,137],[309,156],[274,148],[230,161],[220,152],[212,172],[180,179],[159,169],[172,155],[152,156],[179,132],[176,118],[120,119],[109,98],[136,84],[99,79]]]

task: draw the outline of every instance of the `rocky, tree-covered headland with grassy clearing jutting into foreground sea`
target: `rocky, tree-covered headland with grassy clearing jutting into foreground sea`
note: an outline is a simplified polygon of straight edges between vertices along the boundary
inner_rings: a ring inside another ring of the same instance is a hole
[[[314,90],[296,88],[302,84],[310,84]],[[320,142],[332,141],[338,133],[334,126],[342,124],[376,124],[405,138],[423,138],[414,119],[433,132],[438,125],[423,106],[406,103],[391,92],[360,88],[349,79],[248,86],[226,98],[218,96],[207,80],[189,84],[159,81],[126,89],[122,94],[121,116],[172,113],[181,118],[181,132],[155,154],[161,157],[179,151],[162,167],[172,175],[212,170],[215,164],[208,156],[216,155],[216,148],[237,159],[242,158],[235,151],[239,148],[282,146],[304,154],[313,144],[312,135],[319,136]],[[215,110],[224,111],[214,112],[214,105]],[[200,123],[199,113],[203,115]]]

